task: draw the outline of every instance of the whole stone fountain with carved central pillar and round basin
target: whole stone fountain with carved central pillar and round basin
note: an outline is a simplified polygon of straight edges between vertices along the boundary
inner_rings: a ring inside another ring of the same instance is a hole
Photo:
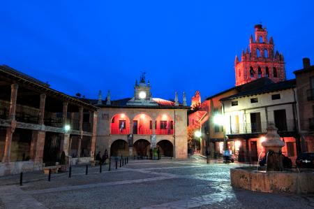
[[[262,143],[267,156],[266,171],[256,171],[255,166],[231,168],[231,185],[234,188],[257,192],[286,192],[292,194],[314,193],[314,172],[295,169],[284,170],[281,148],[285,143],[277,133],[274,123],[267,127]]]

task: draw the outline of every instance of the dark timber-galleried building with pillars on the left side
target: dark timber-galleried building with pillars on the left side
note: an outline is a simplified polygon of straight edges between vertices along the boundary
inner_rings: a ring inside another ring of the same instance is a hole
[[[0,175],[94,159],[96,107],[0,66]]]

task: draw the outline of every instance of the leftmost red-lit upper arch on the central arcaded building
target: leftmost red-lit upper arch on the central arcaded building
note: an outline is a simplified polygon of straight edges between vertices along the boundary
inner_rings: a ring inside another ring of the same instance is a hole
[[[125,113],[117,113],[112,116],[110,134],[130,134],[130,118]]]

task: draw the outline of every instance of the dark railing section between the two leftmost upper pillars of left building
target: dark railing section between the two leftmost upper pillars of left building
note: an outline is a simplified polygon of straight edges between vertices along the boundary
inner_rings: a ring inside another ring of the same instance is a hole
[[[40,110],[29,106],[16,105],[15,120],[19,122],[27,122],[38,124]]]

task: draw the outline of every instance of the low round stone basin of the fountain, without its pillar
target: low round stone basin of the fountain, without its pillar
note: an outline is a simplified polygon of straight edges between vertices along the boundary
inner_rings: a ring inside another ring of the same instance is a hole
[[[231,168],[234,188],[256,192],[311,194],[314,193],[314,172],[252,171],[254,168]]]

